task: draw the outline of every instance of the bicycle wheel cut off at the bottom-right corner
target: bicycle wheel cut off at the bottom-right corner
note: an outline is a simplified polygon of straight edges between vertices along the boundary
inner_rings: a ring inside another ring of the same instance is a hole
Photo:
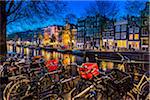
[[[141,87],[140,87],[140,91],[141,91],[141,95],[140,95],[140,99],[145,100],[146,97],[149,95],[149,81],[145,81]]]

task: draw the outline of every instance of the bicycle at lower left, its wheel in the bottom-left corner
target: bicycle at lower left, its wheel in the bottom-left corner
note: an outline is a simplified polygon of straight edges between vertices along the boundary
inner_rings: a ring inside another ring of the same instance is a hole
[[[38,62],[39,61],[39,62]],[[77,77],[71,78],[59,78],[55,80],[52,77],[54,74],[62,73],[62,70],[56,70],[52,72],[43,72],[42,75],[38,76],[38,72],[41,72],[39,69],[42,68],[40,60],[36,63],[39,66],[29,68],[29,76],[27,79],[22,79],[11,84],[8,94],[6,95],[6,100],[11,99],[57,99],[59,96],[64,93],[64,84],[69,83],[70,81],[75,80]],[[37,71],[37,73],[35,73]],[[33,73],[31,73],[33,72]],[[27,74],[28,74],[27,73]],[[34,77],[32,77],[34,75]],[[32,78],[31,78],[32,77]],[[72,88],[72,87],[71,87]],[[21,91],[24,90],[24,91]]]

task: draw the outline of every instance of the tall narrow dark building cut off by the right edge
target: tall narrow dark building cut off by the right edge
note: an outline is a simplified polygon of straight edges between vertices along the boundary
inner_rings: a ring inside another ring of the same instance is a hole
[[[149,14],[150,2],[146,3],[143,11],[141,11],[141,49],[148,51],[149,45],[149,25],[150,25],[150,14]]]

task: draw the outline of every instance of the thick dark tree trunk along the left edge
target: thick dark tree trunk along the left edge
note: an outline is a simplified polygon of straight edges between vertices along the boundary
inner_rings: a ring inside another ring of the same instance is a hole
[[[6,2],[0,1],[0,56],[5,57],[7,54],[7,44],[6,44]],[[1,57],[0,57],[1,58]]]

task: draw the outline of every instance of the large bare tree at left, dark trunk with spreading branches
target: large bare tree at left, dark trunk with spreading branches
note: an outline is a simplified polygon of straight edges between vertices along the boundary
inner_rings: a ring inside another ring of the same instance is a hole
[[[33,25],[37,21],[42,22],[49,17],[56,17],[64,11],[66,5],[61,1],[0,1],[0,55],[7,53],[6,29],[16,21],[28,22]]]

